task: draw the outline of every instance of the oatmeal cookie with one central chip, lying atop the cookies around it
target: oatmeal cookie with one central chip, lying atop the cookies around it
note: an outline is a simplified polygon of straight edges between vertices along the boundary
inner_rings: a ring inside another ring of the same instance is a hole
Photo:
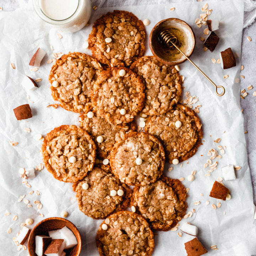
[[[114,175],[127,185],[155,182],[164,170],[165,153],[160,141],[144,132],[130,132],[110,153]]]

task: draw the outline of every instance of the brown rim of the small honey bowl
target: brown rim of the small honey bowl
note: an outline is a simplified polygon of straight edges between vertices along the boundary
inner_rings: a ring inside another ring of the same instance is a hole
[[[160,58],[154,51],[153,47],[152,47],[152,34],[153,32],[155,31],[156,28],[158,28],[162,23],[166,22],[166,21],[175,21],[177,23],[182,23],[183,25],[185,25],[185,27],[191,32],[191,36],[192,36],[192,39],[193,39],[193,42],[192,42],[192,48],[191,50],[188,52],[187,57],[190,57],[194,51],[194,48],[196,46],[196,37],[195,37],[195,34],[194,34],[194,31],[192,30],[192,27],[190,25],[188,25],[187,22],[183,21],[183,20],[180,20],[178,18],[167,18],[165,20],[161,20],[159,21],[158,23],[156,23],[156,25],[153,27],[153,29],[151,30],[150,32],[150,35],[149,35],[149,48],[151,50],[151,52],[153,53],[154,57],[159,60],[160,62],[166,64],[166,65],[178,65],[178,64],[181,64],[183,62],[185,62],[187,59],[184,57],[183,60],[179,61],[179,62],[169,62],[165,59],[162,59]]]

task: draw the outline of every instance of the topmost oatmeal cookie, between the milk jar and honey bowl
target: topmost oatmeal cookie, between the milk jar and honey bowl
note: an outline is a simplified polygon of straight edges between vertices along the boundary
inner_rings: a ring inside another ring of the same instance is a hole
[[[127,11],[108,12],[98,18],[89,34],[89,49],[100,63],[130,66],[145,53],[144,24]]]

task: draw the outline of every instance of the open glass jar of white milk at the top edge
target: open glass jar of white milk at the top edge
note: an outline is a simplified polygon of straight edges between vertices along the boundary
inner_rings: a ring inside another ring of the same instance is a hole
[[[37,15],[58,31],[76,32],[91,16],[90,0],[33,0]]]

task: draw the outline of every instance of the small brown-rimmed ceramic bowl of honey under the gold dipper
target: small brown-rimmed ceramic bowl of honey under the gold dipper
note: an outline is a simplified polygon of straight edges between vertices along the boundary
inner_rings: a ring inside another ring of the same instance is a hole
[[[149,36],[149,47],[156,59],[166,65],[177,65],[186,60],[174,47],[165,46],[159,41],[159,34],[171,29],[172,33],[178,38],[180,45],[176,44],[186,55],[190,57],[196,45],[196,39],[192,28],[178,18],[167,18],[159,21],[152,29]]]

